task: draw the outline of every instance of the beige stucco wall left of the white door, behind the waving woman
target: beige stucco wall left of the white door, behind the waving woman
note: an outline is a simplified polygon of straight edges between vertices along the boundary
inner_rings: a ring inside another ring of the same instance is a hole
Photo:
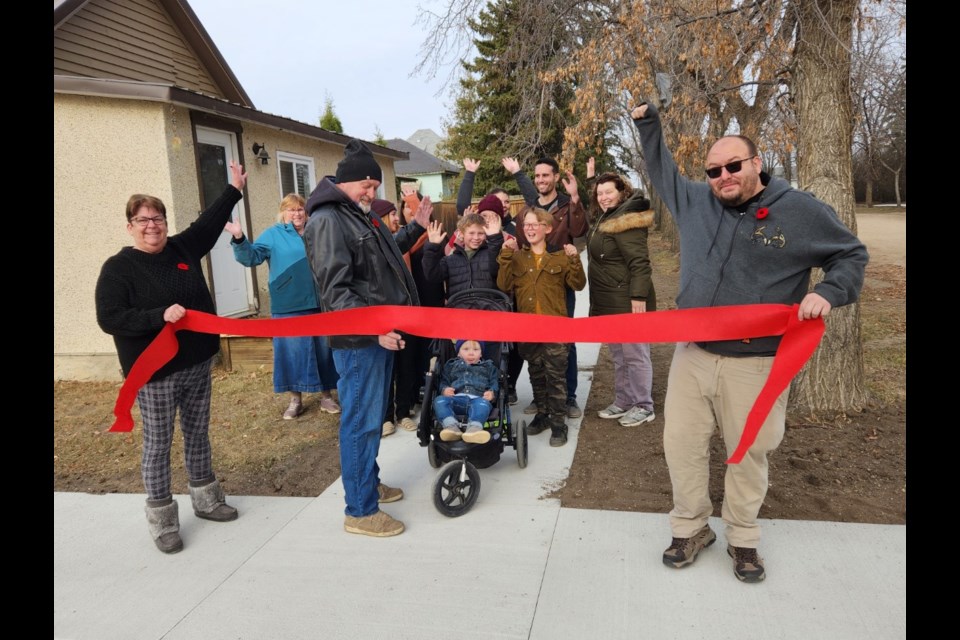
[[[172,212],[189,200],[174,197],[184,177],[170,173],[169,155],[184,153],[172,151],[173,134],[190,140],[189,119],[176,111],[54,94],[54,379],[119,378],[113,340],[97,325],[94,290],[104,260],[131,243],[124,207],[132,193],[155,195]],[[171,218],[171,232],[176,225]],[[89,375],[82,364],[66,362],[74,358],[90,361]]]

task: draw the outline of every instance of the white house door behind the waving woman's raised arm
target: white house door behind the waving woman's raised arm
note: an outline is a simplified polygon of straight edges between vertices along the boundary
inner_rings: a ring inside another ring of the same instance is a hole
[[[230,181],[230,161],[237,158],[237,139],[232,133],[197,127],[197,150],[200,157],[200,189],[203,201],[212,204]],[[234,221],[246,228],[243,200],[233,209]],[[224,232],[210,252],[213,270],[214,302],[217,314],[235,317],[254,313],[253,278],[250,269],[233,258],[230,234]]]

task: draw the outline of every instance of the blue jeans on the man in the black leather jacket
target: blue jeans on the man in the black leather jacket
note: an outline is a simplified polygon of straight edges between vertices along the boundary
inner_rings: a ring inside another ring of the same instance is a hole
[[[387,405],[387,384],[393,351],[379,344],[362,349],[333,349],[340,380],[340,474],[348,516],[369,516],[379,510],[380,430]]]

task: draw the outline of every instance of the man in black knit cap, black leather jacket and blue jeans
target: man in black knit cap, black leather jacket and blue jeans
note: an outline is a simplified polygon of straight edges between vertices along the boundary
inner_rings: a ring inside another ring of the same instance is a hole
[[[347,143],[335,180],[324,178],[310,194],[310,219],[303,234],[322,309],[419,305],[403,254],[429,224],[433,210],[429,198],[424,198],[412,222],[391,234],[371,213],[383,173],[359,140]],[[404,346],[396,331],[330,336],[340,375],[340,472],[347,503],[344,530],[349,533],[375,537],[403,533],[403,523],[378,506],[400,500],[403,491],[380,482],[377,454],[393,352]]]

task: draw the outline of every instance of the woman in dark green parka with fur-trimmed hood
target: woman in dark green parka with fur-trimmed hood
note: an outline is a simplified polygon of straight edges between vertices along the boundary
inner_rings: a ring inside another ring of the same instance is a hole
[[[647,313],[657,308],[647,230],[653,224],[650,201],[615,173],[593,184],[593,224],[587,233],[590,315]],[[613,403],[598,412],[625,427],[652,421],[653,365],[648,343],[611,344]]]

